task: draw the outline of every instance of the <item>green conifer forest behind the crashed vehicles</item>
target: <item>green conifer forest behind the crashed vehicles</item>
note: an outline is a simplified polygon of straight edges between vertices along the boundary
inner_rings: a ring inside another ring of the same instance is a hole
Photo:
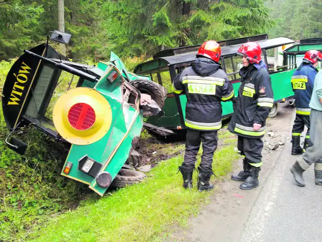
[[[20,56],[58,29],[72,34],[70,58],[149,57],[172,47],[268,33],[294,40],[322,35],[316,0],[2,0],[0,61]]]

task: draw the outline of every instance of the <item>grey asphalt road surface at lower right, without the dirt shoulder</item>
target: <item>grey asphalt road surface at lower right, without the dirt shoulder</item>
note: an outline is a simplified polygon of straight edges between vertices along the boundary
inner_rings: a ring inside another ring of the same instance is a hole
[[[321,147],[322,148],[322,147]],[[322,241],[322,186],[314,169],[304,172],[306,186],[296,186],[289,167],[298,156],[287,142],[262,188],[239,242]]]

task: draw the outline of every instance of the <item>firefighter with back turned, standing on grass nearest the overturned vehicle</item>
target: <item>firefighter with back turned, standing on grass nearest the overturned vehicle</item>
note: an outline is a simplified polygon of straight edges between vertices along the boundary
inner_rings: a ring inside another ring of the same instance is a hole
[[[229,101],[234,91],[226,73],[218,63],[220,45],[209,40],[204,42],[196,55],[196,61],[173,81],[174,92],[184,92],[186,104],[186,152],[179,170],[183,187],[192,189],[192,174],[196,155],[202,142],[203,153],[198,167],[199,192],[213,189],[209,179],[213,174],[212,159],[217,148],[217,131],[221,128],[221,101]]]

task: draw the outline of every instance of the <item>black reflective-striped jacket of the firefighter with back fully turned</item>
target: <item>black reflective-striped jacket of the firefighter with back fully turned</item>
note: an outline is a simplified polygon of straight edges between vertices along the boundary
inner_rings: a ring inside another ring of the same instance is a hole
[[[221,128],[221,101],[234,96],[233,87],[221,66],[208,58],[197,58],[173,81],[174,92],[187,96],[185,125],[212,131]]]

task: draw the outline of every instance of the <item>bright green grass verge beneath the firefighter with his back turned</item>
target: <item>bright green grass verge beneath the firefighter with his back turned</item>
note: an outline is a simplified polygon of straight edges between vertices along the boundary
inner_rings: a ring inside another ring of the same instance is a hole
[[[215,174],[225,175],[236,158],[233,146],[217,151]],[[174,225],[185,226],[212,194],[182,188],[181,174],[177,174],[181,162],[178,157],[160,162],[143,183],[83,202],[41,225],[30,241],[157,241]],[[195,172],[194,187],[196,178]]]

